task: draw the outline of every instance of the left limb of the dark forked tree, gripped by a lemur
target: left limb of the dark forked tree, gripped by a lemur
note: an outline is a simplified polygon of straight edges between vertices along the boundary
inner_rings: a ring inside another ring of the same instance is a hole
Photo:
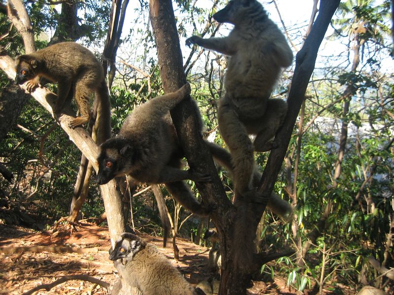
[[[164,92],[173,92],[186,83],[186,76],[171,1],[151,0],[150,18],[158,49]],[[188,100],[181,102],[171,111],[171,118],[190,168],[200,173],[209,173],[213,177],[211,182],[196,185],[202,195],[202,204],[215,208],[216,214],[213,214],[215,216],[212,219],[219,227],[219,232],[223,232],[224,222],[219,220],[219,216],[229,216],[234,213],[234,209],[217,176],[209,150],[201,139],[197,128],[198,115],[194,112],[192,102]]]

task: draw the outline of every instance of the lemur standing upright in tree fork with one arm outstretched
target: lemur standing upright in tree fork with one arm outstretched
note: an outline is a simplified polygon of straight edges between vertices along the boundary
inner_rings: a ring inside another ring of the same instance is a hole
[[[213,18],[234,25],[227,37],[192,36],[186,44],[229,56],[225,94],[218,106],[219,130],[232,156],[235,196],[255,197],[254,151],[278,147],[273,138],[287,103],[269,97],[282,68],[292,64],[293,52],[257,0],[230,0]],[[253,143],[249,134],[255,136]]]

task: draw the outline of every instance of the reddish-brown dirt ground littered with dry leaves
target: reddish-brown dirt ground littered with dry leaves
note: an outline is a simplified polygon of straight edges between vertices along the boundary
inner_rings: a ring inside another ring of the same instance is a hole
[[[113,263],[108,259],[110,247],[108,228],[87,224],[84,227],[77,227],[77,231],[71,235],[69,233],[69,231],[58,231],[52,234],[51,231],[33,231],[19,226],[0,224],[0,247],[5,247],[0,249],[0,294],[24,294],[38,285],[52,283],[65,275],[89,275],[113,283],[117,276]],[[138,236],[155,243],[193,285],[212,276],[207,271],[209,248],[177,238],[179,262],[175,262],[170,239],[167,247],[163,248],[161,237],[146,234],[138,234]],[[18,252],[21,248],[15,247],[21,246],[45,247],[36,247],[36,252]],[[87,250],[89,251],[87,253],[54,253],[55,246],[90,250]],[[91,282],[69,280],[49,291],[40,290],[34,294],[104,295],[109,293],[106,288]],[[296,295],[297,293],[294,289],[289,290],[286,287],[285,278],[275,276],[275,279],[268,283],[253,281],[248,294]],[[335,293],[327,291],[325,294]],[[352,293],[344,292],[344,294]]]

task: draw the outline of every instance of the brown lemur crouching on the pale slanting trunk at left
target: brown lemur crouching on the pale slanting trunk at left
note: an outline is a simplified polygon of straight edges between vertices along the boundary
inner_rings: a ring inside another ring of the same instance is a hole
[[[15,82],[26,81],[30,92],[39,86],[40,78],[58,83],[58,97],[54,113],[59,114],[69,94],[75,98],[80,116],[69,123],[70,128],[89,121],[89,100],[108,96],[101,63],[87,48],[75,42],[61,42],[32,54],[21,55],[15,60]]]

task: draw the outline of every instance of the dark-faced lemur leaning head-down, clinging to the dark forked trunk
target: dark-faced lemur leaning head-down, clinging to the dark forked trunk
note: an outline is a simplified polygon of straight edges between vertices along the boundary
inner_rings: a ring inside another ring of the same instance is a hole
[[[187,97],[190,98],[189,84],[136,107],[118,136],[100,145],[97,182],[105,184],[114,177],[129,175],[138,182],[164,183],[186,209],[207,215],[211,208],[198,203],[183,180],[209,181],[211,177],[181,169],[183,151],[169,114]]]

